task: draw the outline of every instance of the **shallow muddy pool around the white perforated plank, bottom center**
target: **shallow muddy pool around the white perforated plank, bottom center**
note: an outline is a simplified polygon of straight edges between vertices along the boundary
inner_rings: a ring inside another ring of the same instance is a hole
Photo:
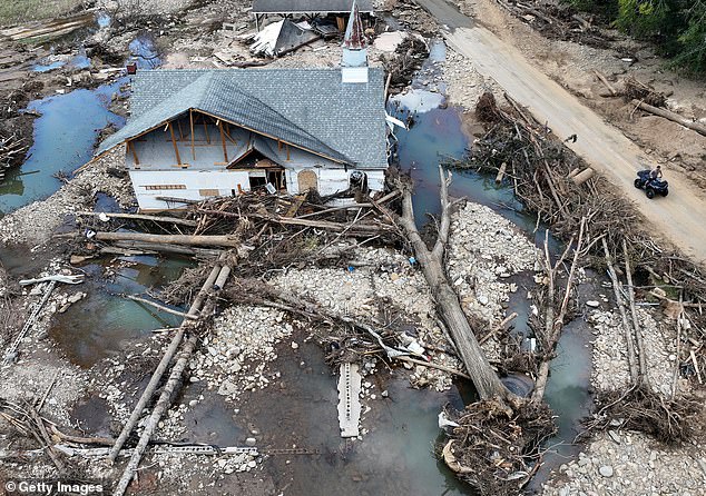
[[[264,469],[284,494],[472,494],[432,453],[440,435],[440,408],[447,403],[457,408],[463,405],[457,388],[443,394],[414,390],[406,378],[383,371],[369,379],[376,385],[377,399],[363,401],[371,406],[362,420],[370,433],[362,442],[345,440],[339,430],[336,377],[324,364],[320,347],[301,344],[294,351],[287,343],[278,355],[272,367],[282,377],[245,396],[237,405],[239,413],[224,414],[218,429],[233,431],[237,426],[239,435],[229,439],[235,444],[243,444],[254,430],[253,437],[263,448],[296,446],[316,452],[274,455],[266,460]],[[380,396],[384,389],[388,398]],[[224,438],[218,433],[210,438],[216,437]]]

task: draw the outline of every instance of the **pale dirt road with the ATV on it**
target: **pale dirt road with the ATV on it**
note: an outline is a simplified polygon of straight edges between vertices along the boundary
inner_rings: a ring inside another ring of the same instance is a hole
[[[441,24],[447,43],[475,69],[494,79],[512,98],[527,106],[560,138],[576,133],[568,146],[621,188],[656,230],[698,262],[706,262],[706,202],[683,177],[670,173],[669,196],[648,200],[635,189],[636,171],[649,162],[620,130],[606,123],[567,90],[532,67],[520,52],[445,0],[416,0]]]

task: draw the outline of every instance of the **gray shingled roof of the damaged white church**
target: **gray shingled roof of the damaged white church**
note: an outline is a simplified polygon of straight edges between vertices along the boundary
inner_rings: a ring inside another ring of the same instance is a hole
[[[141,71],[130,119],[98,153],[198,109],[335,161],[385,167],[383,85],[380,68],[367,83],[342,83],[340,69]]]

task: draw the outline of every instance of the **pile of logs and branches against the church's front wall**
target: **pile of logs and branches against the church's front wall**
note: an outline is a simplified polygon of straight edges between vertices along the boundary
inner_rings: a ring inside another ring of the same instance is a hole
[[[324,248],[341,238],[398,242],[400,228],[376,208],[398,196],[393,192],[360,204],[326,207],[326,199],[314,194],[244,192],[193,202],[185,217],[78,212],[79,226],[84,232],[88,229],[90,237],[75,246],[75,254],[166,252],[210,258],[235,250],[244,270],[258,275],[306,261],[307,257],[331,257],[330,251],[322,255]],[[78,232],[69,236],[81,239]]]

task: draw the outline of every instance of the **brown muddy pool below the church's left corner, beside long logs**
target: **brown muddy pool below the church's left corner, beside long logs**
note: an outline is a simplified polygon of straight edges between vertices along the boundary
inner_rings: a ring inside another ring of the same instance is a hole
[[[106,260],[81,267],[88,277],[77,290],[88,296],[58,315],[49,330],[66,357],[81,367],[90,367],[120,353],[127,340],[149,336],[154,329],[173,327],[182,321],[178,316],[118,295],[159,289],[177,278],[190,261],[153,256],[120,257],[120,264],[110,264],[115,267],[115,277],[106,282],[104,268],[107,264]]]

